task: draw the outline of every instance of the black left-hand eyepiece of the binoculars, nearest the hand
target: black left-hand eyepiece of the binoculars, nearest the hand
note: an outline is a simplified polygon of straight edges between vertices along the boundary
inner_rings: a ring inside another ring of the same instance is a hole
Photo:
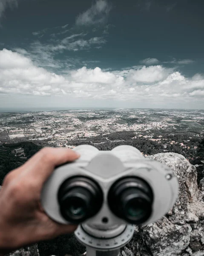
[[[63,218],[79,224],[100,210],[103,204],[103,192],[90,178],[72,177],[60,186],[58,202]]]

